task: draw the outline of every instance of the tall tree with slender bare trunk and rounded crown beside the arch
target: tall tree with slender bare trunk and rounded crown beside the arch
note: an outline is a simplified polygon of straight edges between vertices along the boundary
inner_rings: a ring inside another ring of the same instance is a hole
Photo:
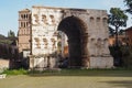
[[[118,31],[121,26],[127,26],[128,15],[120,8],[111,8],[109,14],[109,24],[116,30],[116,46],[118,46]]]

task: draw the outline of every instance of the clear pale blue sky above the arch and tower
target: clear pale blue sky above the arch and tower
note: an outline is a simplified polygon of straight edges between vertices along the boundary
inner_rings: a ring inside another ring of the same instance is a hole
[[[0,34],[7,36],[10,30],[18,34],[18,12],[25,8],[32,9],[32,6],[99,9],[108,12],[112,7],[127,8],[123,0],[0,0]],[[129,20],[127,28],[131,26],[131,22]]]

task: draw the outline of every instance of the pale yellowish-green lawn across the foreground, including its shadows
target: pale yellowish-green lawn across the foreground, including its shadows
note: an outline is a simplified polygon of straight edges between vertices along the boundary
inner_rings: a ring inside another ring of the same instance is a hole
[[[132,88],[132,70],[63,69],[9,75],[0,79],[0,88]]]

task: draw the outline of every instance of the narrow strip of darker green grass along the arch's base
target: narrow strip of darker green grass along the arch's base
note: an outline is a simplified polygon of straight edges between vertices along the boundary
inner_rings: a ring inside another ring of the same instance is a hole
[[[111,73],[112,72],[112,73]],[[25,70],[7,69],[7,75],[29,75],[29,76],[131,76],[132,69],[114,68],[114,69],[47,69],[47,70]]]

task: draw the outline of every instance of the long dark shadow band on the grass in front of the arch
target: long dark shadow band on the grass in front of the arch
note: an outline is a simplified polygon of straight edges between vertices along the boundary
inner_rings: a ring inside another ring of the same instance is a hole
[[[131,69],[48,69],[31,70],[29,76],[95,76],[95,77],[132,77]]]

